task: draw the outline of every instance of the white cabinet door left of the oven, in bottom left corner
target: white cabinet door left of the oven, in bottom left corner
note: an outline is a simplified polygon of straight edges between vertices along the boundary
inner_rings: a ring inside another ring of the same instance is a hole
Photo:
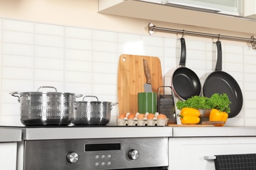
[[[0,143],[0,169],[16,169],[17,143]]]

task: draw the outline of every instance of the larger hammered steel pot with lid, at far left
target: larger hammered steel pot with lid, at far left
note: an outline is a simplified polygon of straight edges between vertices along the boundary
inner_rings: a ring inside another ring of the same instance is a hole
[[[68,125],[74,116],[74,93],[39,92],[12,92],[20,102],[20,121],[26,126],[35,125]]]

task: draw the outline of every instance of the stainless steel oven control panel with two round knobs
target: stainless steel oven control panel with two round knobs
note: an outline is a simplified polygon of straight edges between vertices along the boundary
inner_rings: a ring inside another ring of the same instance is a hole
[[[26,169],[130,169],[168,166],[168,138],[25,141]]]

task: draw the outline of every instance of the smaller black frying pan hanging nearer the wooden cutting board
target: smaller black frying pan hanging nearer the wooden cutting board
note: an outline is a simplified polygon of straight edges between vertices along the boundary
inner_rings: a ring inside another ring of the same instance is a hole
[[[173,73],[171,85],[173,92],[181,100],[201,94],[201,83],[198,76],[186,67],[186,43],[184,38],[181,38],[180,67]]]

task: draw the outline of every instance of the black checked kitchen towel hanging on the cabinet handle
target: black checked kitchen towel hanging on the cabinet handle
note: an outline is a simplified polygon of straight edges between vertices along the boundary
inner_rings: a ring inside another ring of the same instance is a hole
[[[255,170],[256,154],[215,155],[216,170]]]

